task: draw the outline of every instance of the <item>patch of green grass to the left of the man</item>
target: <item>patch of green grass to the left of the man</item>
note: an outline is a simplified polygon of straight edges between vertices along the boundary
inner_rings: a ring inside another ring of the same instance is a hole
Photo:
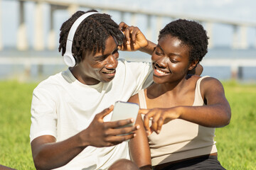
[[[35,169],[29,130],[31,98],[36,84],[0,82],[0,164],[14,169]]]

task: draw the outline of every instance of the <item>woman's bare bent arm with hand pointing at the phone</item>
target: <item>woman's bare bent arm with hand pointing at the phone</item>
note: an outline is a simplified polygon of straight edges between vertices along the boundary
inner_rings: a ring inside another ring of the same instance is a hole
[[[152,108],[140,110],[144,116],[144,126],[148,134],[159,133],[161,126],[180,118],[209,128],[220,128],[230,123],[230,105],[220,81],[205,78],[201,81],[201,94],[207,101],[205,106],[176,106],[173,108]],[[153,118],[149,127],[149,118]]]

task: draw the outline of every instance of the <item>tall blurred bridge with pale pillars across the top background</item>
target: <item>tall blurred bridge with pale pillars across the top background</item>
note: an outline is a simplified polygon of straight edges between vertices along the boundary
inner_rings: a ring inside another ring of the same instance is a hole
[[[0,7],[1,7],[1,1],[0,0]],[[10,0],[9,0],[10,1]],[[124,8],[124,7],[117,7],[117,6],[103,6],[103,5],[93,5],[93,4],[86,4],[83,2],[77,2],[72,0],[13,0],[18,1],[19,6],[19,21],[18,22],[18,34],[17,34],[17,44],[16,47],[18,50],[27,50],[28,49],[28,38],[26,33],[26,22],[25,22],[25,13],[24,10],[24,4],[28,1],[32,1],[35,4],[35,20],[34,20],[34,41],[33,41],[33,49],[34,50],[45,50],[48,48],[48,50],[54,50],[56,48],[56,41],[55,41],[55,31],[53,29],[53,16],[55,11],[58,10],[68,10],[68,13],[71,15],[75,13],[75,11],[78,11],[79,8],[95,8],[98,11],[107,13],[108,11],[117,11],[120,15],[121,21],[124,21],[124,15],[126,13],[131,14],[130,22],[131,25],[137,26],[136,23],[137,16],[142,15],[146,16],[146,37],[151,40],[152,35],[152,28],[151,28],[151,20],[153,17],[156,17],[156,30],[160,30],[163,28],[163,18],[186,18],[194,21],[198,21],[204,24],[206,30],[208,31],[208,36],[210,37],[209,47],[213,47],[213,25],[223,24],[228,25],[233,28],[233,44],[230,45],[231,47],[235,49],[246,49],[248,47],[247,43],[247,28],[256,28],[256,23],[249,23],[249,22],[241,22],[241,21],[228,21],[223,20],[220,18],[204,18],[204,17],[193,17],[193,16],[184,16],[184,15],[178,15],[175,13],[164,13],[162,11],[159,12],[151,12],[151,11],[145,11],[141,8]],[[45,16],[46,13],[43,13],[43,6],[49,6],[50,8],[50,30],[48,31],[48,47],[44,47],[44,29],[46,29],[43,26],[43,16]],[[1,15],[1,14],[0,14]],[[1,18],[1,16],[0,16]],[[256,39],[256,38],[255,38]],[[1,20],[0,20],[0,50],[3,49],[4,45],[1,40]],[[256,47],[256,45],[255,45]]]

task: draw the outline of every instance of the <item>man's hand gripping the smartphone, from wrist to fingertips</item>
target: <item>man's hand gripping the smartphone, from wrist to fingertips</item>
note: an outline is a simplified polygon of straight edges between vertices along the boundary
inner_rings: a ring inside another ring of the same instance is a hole
[[[80,132],[82,145],[90,145],[94,147],[110,147],[132,139],[134,131],[139,129],[139,126],[131,126],[120,128],[123,125],[133,123],[133,119],[118,120],[114,122],[104,122],[103,118],[112,112],[113,106],[106,108],[101,113],[95,115],[89,127]],[[129,134],[129,135],[127,135]]]

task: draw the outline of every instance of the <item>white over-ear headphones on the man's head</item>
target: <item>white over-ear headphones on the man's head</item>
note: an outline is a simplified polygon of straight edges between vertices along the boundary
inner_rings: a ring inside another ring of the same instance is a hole
[[[95,13],[97,13],[97,12],[88,12],[88,13],[83,14],[75,21],[75,23],[73,23],[72,27],[70,28],[70,31],[68,32],[68,40],[67,40],[67,44],[66,44],[65,54],[63,55],[64,62],[65,62],[65,64],[68,65],[68,67],[75,66],[75,57],[73,57],[73,55],[72,55],[72,42],[73,42],[73,38],[75,35],[75,31],[77,30],[80,23],[82,23],[82,21],[85,20],[85,18],[87,18],[88,16],[95,14]]]

